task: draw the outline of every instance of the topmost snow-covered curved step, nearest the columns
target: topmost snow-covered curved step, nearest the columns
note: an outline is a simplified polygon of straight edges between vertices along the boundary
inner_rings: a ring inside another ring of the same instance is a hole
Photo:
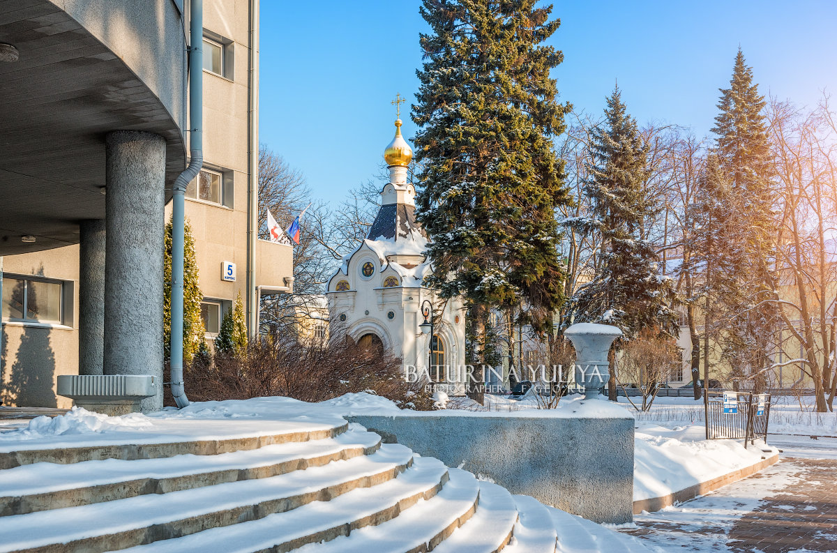
[[[27,443],[0,442],[0,469],[13,469],[31,463],[80,463],[99,459],[147,459],[168,458],[175,455],[216,455],[245,449],[258,449],[276,443],[307,442],[334,438],[348,429],[348,423],[331,425],[323,422],[257,424],[247,429],[240,421],[229,424],[213,421],[214,430],[208,430],[205,421],[172,420],[155,421],[146,432],[126,433],[130,443],[121,433],[100,433],[80,437],[61,435],[51,440],[38,440],[30,447]],[[244,430],[242,428],[245,428]],[[75,439],[73,439],[75,438]],[[84,445],[78,446],[78,443]]]

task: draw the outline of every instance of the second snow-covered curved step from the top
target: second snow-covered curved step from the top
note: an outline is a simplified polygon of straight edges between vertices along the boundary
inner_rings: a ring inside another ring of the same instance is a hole
[[[352,430],[336,438],[285,443],[218,455],[177,455],[72,464],[34,463],[0,470],[0,515],[74,507],[167,492],[269,478],[377,451],[381,438]]]

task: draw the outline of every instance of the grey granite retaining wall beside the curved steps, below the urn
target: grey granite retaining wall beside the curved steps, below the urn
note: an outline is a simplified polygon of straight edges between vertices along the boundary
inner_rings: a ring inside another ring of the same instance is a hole
[[[417,413],[348,417],[384,442],[439,458],[599,523],[633,520],[634,418]],[[489,415],[489,416],[485,416]]]

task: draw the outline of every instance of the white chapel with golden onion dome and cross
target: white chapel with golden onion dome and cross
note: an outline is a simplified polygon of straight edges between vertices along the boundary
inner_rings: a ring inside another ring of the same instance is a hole
[[[429,375],[437,389],[462,395],[465,311],[461,300],[444,302],[423,285],[433,270],[424,256],[429,238],[415,218],[415,188],[407,181],[413,150],[401,136],[400,119],[383,158],[389,182],[377,218],[328,282],[331,321],[358,344],[393,351],[405,371]]]

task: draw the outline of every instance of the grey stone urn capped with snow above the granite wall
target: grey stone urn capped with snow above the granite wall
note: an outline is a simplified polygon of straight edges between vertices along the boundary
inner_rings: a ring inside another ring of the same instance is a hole
[[[576,350],[575,381],[584,387],[584,398],[598,396],[598,389],[610,380],[608,351],[622,330],[611,325],[577,323],[564,331]]]

